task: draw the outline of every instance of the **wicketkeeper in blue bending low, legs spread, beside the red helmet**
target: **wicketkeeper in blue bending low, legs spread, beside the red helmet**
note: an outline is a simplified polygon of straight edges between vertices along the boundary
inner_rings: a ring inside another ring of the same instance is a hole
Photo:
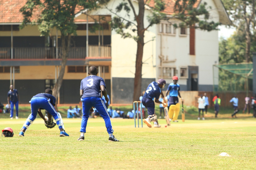
[[[52,94],[53,94],[53,91],[51,89],[46,89],[45,93],[39,93],[32,97],[32,99],[30,100],[32,113],[29,115],[28,119],[24,123],[19,133],[19,136],[24,136],[25,131],[34,122],[37,113],[39,113],[39,115],[41,113],[42,115],[42,112],[41,112],[42,109],[45,109],[46,111],[48,111],[48,113],[50,113],[55,119],[56,124],[58,125],[60,130],[59,136],[69,136],[65,132],[64,124],[63,124],[60,113],[56,112],[56,110],[54,109],[56,98]]]

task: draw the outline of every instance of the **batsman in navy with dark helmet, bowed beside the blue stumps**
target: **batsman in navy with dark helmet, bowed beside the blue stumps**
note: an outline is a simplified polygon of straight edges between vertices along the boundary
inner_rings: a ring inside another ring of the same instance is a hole
[[[162,102],[159,101],[160,94],[164,99],[164,95],[161,89],[164,88],[165,84],[166,84],[166,81],[162,78],[159,79],[157,82],[153,81],[148,85],[147,90],[142,97],[142,100],[141,100],[142,104],[148,109],[148,117],[144,119],[143,122],[148,127],[152,127],[150,122],[154,122],[154,127],[161,127],[158,124],[157,115],[155,113],[155,102],[163,104],[164,106],[166,105],[165,101],[162,101]],[[154,102],[154,98],[156,98],[155,102]]]

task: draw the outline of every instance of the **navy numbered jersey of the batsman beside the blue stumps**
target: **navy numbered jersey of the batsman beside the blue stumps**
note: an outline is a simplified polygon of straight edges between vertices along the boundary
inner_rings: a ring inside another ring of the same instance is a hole
[[[153,81],[148,85],[148,88],[143,95],[143,98],[148,98],[154,100],[154,98],[159,99],[159,96],[161,94],[161,89],[157,82]]]

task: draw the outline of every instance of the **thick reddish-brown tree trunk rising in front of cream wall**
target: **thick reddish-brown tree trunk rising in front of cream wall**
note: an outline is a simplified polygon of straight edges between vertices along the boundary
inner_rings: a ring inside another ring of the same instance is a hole
[[[139,14],[136,18],[137,21],[137,54],[136,54],[136,64],[135,64],[135,77],[134,77],[134,91],[133,91],[133,101],[138,101],[141,94],[141,80],[142,80],[142,57],[143,57],[143,47],[144,47],[144,0],[139,0]]]

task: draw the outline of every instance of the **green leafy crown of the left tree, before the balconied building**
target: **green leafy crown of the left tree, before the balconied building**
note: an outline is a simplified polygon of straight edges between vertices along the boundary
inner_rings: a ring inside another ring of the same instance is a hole
[[[99,1],[103,3],[104,1]],[[75,9],[94,9],[97,8],[97,1],[90,0],[28,0],[26,5],[20,9],[24,19],[21,25],[23,28],[27,24],[38,25],[41,35],[49,35],[54,27],[67,36],[68,34],[76,35],[76,25],[74,23]],[[35,20],[32,17],[35,13],[40,13]]]

